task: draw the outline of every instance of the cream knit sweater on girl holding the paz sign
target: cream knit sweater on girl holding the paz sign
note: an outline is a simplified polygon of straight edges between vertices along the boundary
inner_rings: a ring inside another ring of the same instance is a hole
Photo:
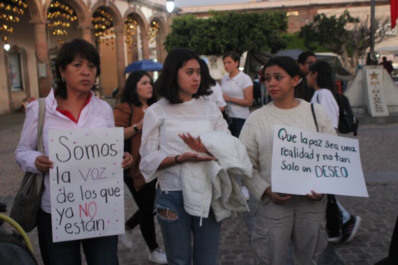
[[[265,190],[271,186],[274,125],[286,125],[316,132],[311,104],[301,99],[298,101],[298,106],[291,109],[278,108],[271,102],[254,111],[247,118],[240,133],[239,139],[246,146],[253,164],[253,177],[242,181],[257,200],[263,203],[269,201]],[[333,124],[323,108],[315,103],[314,110],[319,132],[336,135]]]

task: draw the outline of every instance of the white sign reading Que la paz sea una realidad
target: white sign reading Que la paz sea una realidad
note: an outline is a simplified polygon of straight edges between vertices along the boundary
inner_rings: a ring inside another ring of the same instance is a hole
[[[272,191],[369,197],[357,139],[275,125]]]

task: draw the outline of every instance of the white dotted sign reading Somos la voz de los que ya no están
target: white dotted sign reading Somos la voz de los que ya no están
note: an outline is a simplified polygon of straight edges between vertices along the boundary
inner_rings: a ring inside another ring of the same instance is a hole
[[[50,130],[53,241],[124,233],[123,128]]]

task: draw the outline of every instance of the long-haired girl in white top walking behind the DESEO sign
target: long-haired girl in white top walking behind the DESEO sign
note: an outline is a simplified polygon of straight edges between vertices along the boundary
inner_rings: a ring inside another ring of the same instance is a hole
[[[339,127],[339,105],[336,98],[338,96],[334,88],[333,70],[329,63],[317,61],[310,65],[307,84],[315,89],[311,103],[318,103],[323,107],[337,131]],[[358,231],[361,217],[351,215],[338,201],[337,205],[343,213],[342,232],[329,231],[329,242],[349,242]]]

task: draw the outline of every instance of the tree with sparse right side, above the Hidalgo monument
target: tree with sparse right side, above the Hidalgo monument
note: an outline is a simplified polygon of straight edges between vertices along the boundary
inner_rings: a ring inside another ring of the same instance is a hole
[[[387,37],[388,25],[388,18],[375,19],[375,44]],[[339,17],[323,13],[314,16],[311,23],[301,27],[299,36],[310,50],[322,45],[340,55],[344,67],[355,73],[359,58],[370,47],[371,28],[368,18],[361,21],[346,10]]]

